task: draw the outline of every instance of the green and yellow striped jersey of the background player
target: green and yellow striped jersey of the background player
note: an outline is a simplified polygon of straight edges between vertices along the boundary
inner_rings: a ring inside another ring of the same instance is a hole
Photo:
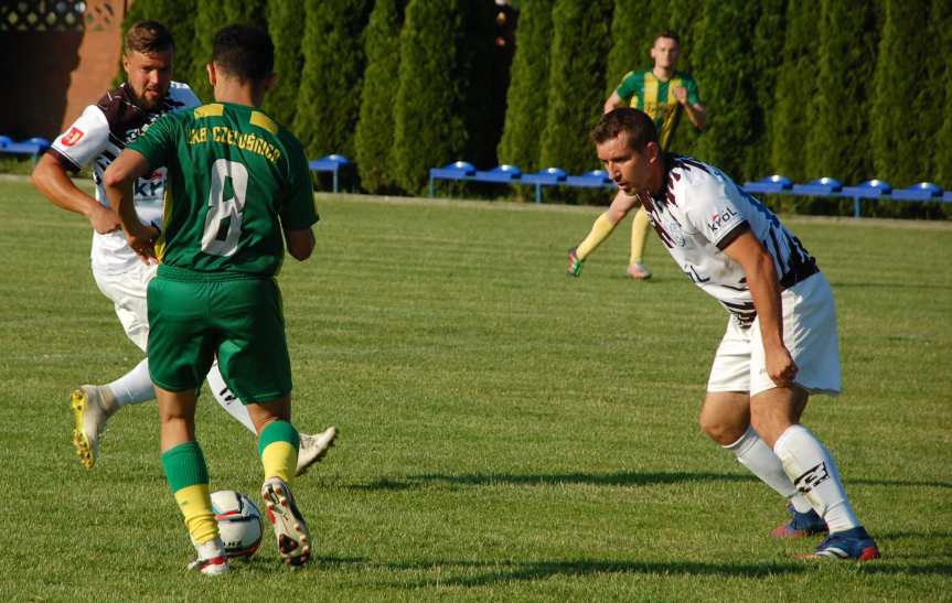
[[[700,104],[697,83],[689,75],[675,72],[667,82],[659,79],[654,73],[629,72],[618,86],[618,96],[634,109],[640,109],[654,120],[657,128],[657,141],[662,150],[667,150],[667,143],[674,136],[681,114],[684,112],[677,98],[676,88],[687,88],[687,101]]]

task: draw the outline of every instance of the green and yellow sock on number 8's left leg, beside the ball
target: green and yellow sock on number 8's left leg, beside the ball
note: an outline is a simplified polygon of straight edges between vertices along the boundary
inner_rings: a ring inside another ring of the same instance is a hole
[[[202,545],[217,538],[218,524],[208,493],[208,467],[199,442],[185,442],[163,452],[162,469],[195,542]]]

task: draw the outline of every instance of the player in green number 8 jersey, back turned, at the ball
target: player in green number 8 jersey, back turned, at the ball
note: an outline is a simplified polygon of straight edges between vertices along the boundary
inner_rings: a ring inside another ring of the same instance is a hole
[[[162,466],[197,552],[193,567],[228,570],[195,440],[197,389],[214,357],[246,403],[265,470],[261,496],[278,549],[307,563],[310,534],[291,495],[299,434],[275,276],[288,252],[314,247],[318,220],[301,143],[257,107],[275,76],[274,44],[250,25],[215,34],[208,79],[216,103],[156,121],[106,171],[130,247],[159,261],[149,283],[149,362],[162,424]],[[164,231],[136,217],[131,184],[168,169]]]

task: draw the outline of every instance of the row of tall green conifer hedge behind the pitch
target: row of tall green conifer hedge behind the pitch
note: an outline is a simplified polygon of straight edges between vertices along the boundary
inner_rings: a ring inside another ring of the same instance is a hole
[[[952,189],[948,0],[521,0],[512,9],[493,0],[136,0],[126,25],[167,23],[175,77],[207,100],[214,31],[267,26],[279,83],[265,109],[311,157],[355,160],[372,193],[420,194],[428,168],[458,159],[597,168],[587,132],[621,76],[650,67],[654,33],[667,29],[681,36],[680,67],[709,115],[704,133],[683,120],[673,150],[737,180],[781,173]],[[923,208],[943,212],[876,211]]]

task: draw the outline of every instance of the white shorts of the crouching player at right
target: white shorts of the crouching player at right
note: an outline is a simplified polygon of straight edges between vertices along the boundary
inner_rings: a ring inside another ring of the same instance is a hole
[[[810,394],[839,394],[839,344],[836,305],[823,272],[780,294],[783,304],[783,343],[800,369],[794,383]],[[731,317],[720,341],[708,391],[747,391],[756,396],[777,387],[767,376],[760,319],[744,331]]]

